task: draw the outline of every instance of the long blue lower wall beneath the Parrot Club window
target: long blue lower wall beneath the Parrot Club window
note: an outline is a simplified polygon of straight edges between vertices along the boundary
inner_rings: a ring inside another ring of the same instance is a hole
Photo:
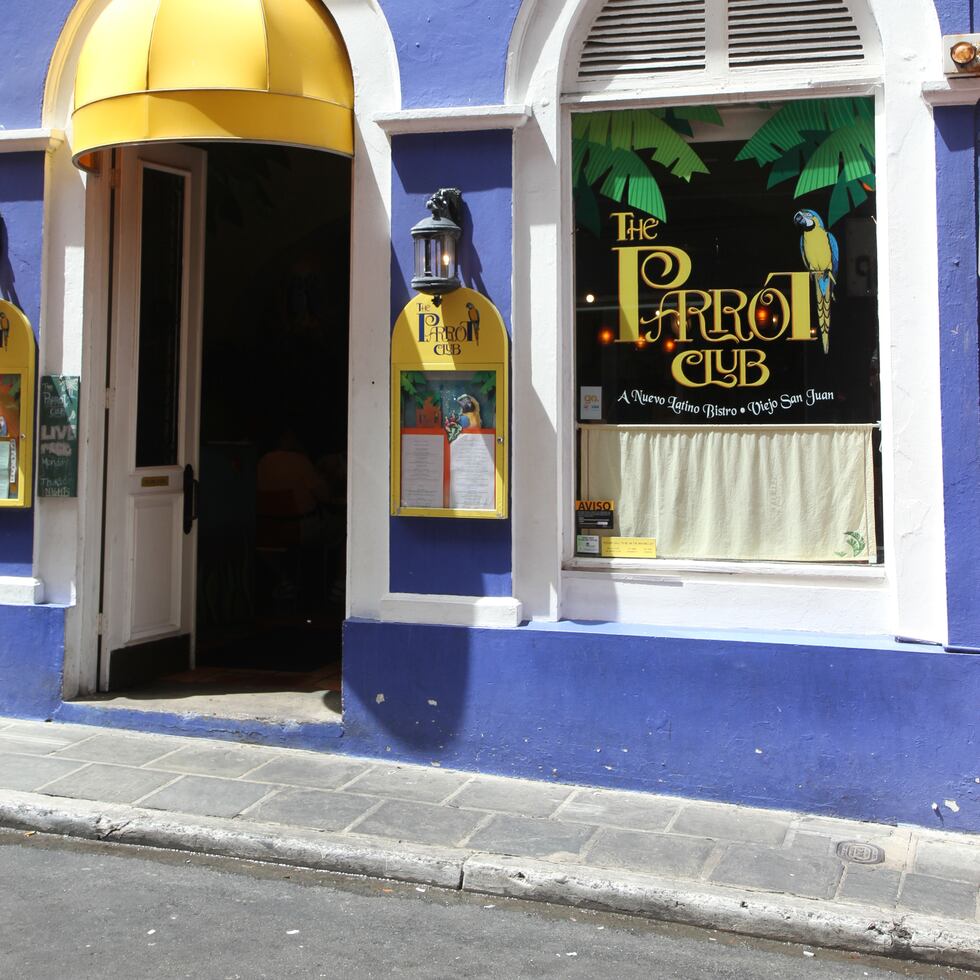
[[[980,657],[891,641],[351,621],[342,742],[423,764],[926,826],[949,799],[960,809],[941,809],[946,828],[980,831],[978,705]]]

